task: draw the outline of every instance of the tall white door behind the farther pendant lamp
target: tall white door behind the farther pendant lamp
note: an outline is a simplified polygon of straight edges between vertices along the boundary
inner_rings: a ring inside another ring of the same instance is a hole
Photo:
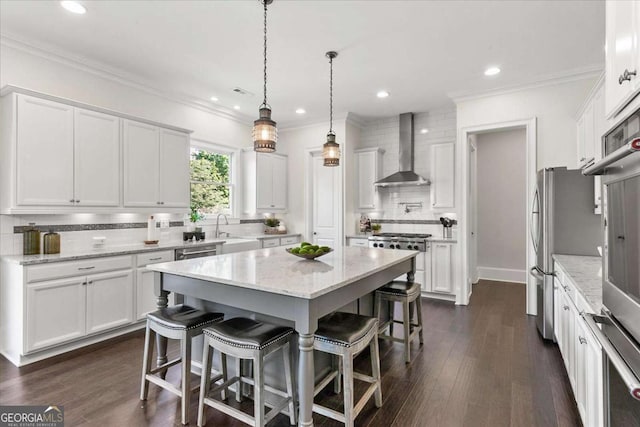
[[[319,246],[342,246],[342,168],[324,166],[322,152],[307,153],[307,239]]]

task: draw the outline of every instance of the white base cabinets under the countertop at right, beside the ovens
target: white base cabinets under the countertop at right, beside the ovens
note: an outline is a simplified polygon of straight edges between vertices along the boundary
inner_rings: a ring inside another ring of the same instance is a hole
[[[600,427],[604,425],[602,348],[580,315],[591,309],[557,264],[555,274],[553,291],[556,341],[583,425]]]

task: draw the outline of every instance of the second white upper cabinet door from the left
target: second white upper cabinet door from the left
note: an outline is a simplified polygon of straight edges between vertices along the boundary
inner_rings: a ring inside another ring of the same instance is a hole
[[[120,119],[75,109],[74,198],[78,206],[120,204]]]

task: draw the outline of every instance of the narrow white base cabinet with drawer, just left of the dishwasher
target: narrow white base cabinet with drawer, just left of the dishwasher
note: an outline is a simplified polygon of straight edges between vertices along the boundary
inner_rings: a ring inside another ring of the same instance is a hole
[[[173,261],[173,251],[159,251],[137,255],[136,265],[136,320],[142,320],[147,313],[157,310],[158,297],[155,294],[155,273],[145,267],[159,262]],[[175,295],[172,292],[169,298]]]

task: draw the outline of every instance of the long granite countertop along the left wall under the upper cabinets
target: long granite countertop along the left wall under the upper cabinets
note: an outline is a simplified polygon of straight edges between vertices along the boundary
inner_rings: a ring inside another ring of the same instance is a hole
[[[117,256],[117,255],[132,255],[141,252],[154,252],[164,250],[182,249],[191,246],[202,245],[232,245],[234,243],[245,243],[255,239],[238,239],[238,238],[226,238],[226,239],[210,239],[201,240],[197,242],[184,242],[184,241],[160,241],[157,245],[145,245],[144,243],[134,243],[131,245],[122,246],[106,246],[104,248],[87,249],[78,252],[63,252],[53,255],[3,255],[0,256],[0,260],[11,262],[20,265],[35,265],[45,264],[52,262],[62,261],[76,261],[80,259],[99,258],[104,256]]]

